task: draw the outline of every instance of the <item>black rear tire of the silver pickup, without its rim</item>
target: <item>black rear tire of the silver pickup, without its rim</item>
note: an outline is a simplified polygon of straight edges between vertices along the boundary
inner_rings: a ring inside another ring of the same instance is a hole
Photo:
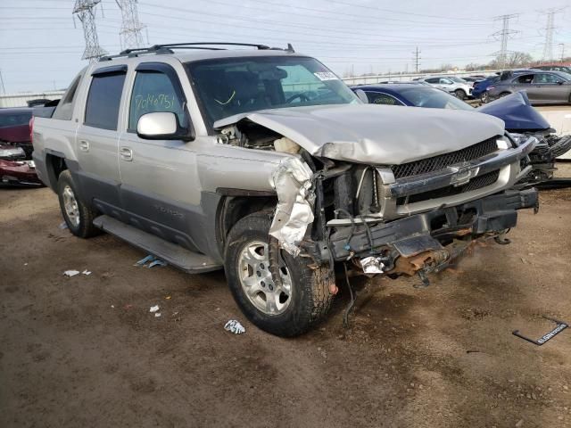
[[[74,220],[73,216],[65,208],[64,192],[67,192],[68,188],[71,190],[77,202],[78,220]],[[79,236],[80,238],[89,238],[101,233],[98,228],[93,226],[93,219],[97,217],[97,212],[82,199],[78,186],[73,181],[73,177],[71,177],[70,171],[67,169],[62,171],[62,174],[60,174],[58,178],[57,195],[60,201],[63,219],[73,235]]]

